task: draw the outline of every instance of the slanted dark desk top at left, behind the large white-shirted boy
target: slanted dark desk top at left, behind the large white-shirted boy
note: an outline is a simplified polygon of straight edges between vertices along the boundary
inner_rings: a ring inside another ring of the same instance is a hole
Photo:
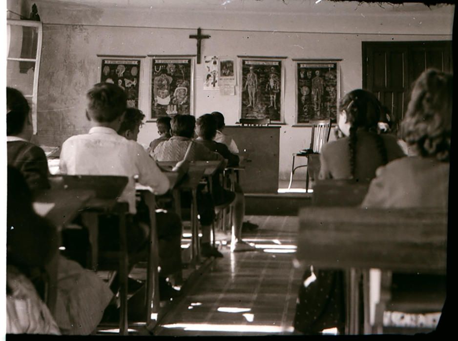
[[[49,189],[40,193],[34,204],[54,204],[44,217],[58,230],[62,230],[62,227],[71,222],[94,196],[95,192],[90,189]]]

